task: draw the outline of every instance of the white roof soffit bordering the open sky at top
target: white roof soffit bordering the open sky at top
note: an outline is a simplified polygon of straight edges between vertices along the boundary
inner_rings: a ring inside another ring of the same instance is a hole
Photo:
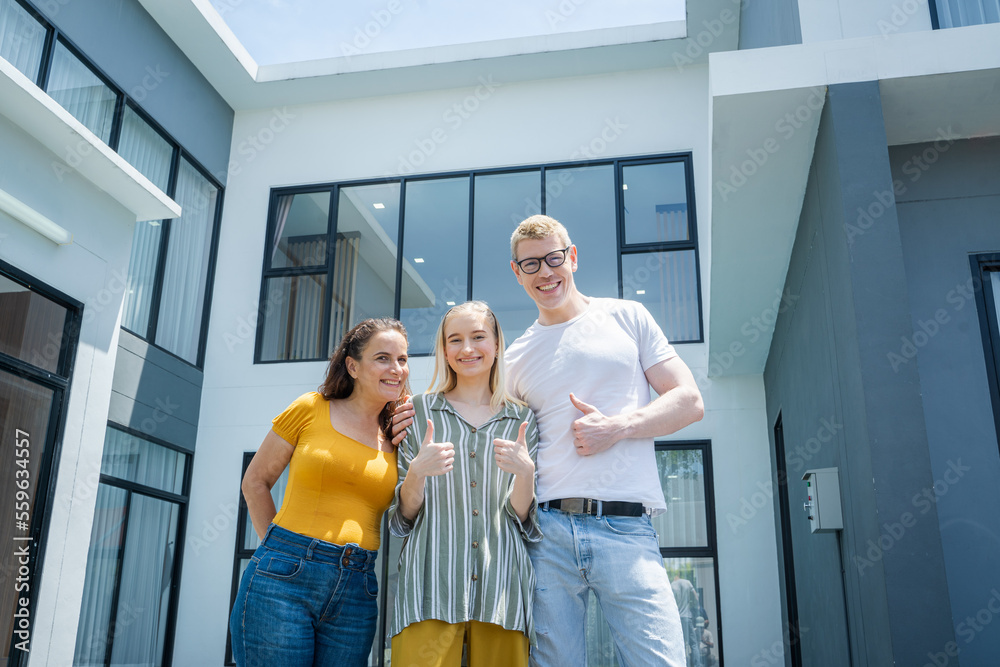
[[[687,21],[258,66],[209,0],[140,0],[236,111],[705,63],[735,49],[739,3],[688,2]]]

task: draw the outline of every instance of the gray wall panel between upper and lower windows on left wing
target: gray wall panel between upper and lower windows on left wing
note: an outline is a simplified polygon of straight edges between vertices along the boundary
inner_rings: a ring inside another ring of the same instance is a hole
[[[193,452],[202,373],[124,329],[108,419]]]

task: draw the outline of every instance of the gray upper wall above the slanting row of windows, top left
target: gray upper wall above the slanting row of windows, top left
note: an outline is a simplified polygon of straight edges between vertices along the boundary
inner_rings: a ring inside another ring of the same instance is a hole
[[[225,185],[233,110],[137,0],[34,4]]]

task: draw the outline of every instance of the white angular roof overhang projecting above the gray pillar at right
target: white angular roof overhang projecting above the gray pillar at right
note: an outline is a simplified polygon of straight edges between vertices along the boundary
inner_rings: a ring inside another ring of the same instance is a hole
[[[710,375],[760,373],[826,88],[878,81],[889,145],[1000,135],[1000,24],[714,53]]]

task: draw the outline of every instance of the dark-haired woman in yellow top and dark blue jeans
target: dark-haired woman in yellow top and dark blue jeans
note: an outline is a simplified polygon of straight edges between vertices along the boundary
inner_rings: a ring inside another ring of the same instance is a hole
[[[240,667],[364,665],[378,617],[379,524],[396,486],[392,414],[408,393],[406,330],[351,329],[319,392],[275,417],[243,478],[261,538],[229,619]],[[281,511],[271,487],[290,466]]]

